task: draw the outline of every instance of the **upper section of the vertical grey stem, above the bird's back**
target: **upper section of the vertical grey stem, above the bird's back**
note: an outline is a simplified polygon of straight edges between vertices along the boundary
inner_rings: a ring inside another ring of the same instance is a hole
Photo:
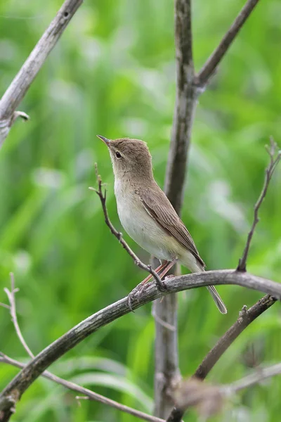
[[[197,89],[194,87],[190,0],[175,3],[176,104],[164,191],[178,214],[181,213],[188,148],[195,117]]]

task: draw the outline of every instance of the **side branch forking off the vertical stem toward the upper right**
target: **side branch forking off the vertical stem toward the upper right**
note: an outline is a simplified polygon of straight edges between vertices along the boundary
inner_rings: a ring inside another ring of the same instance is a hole
[[[226,32],[220,44],[218,44],[216,49],[208,58],[207,62],[203,65],[200,72],[195,76],[195,84],[198,87],[204,87],[209,82],[210,77],[214,75],[218,63],[221,62],[222,58],[227,53],[230,45],[233,43],[238,32],[241,30],[242,26],[246,22],[247,18],[249,18],[249,15],[254,10],[254,7],[258,2],[259,0],[248,0],[244,5],[242,11],[240,11],[239,15],[233,22],[233,25],[231,25],[228,32]]]

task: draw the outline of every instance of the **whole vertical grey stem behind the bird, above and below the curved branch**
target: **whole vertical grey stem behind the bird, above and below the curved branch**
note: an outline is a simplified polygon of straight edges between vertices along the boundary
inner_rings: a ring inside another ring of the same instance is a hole
[[[191,0],[175,1],[176,103],[164,191],[181,214],[197,89],[192,60]],[[165,418],[173,407],[169,390],[180,378],[178,367],[177,297],[153,304],[155,314],[155,416]],[[173,330],[168,327],[174,327]]]

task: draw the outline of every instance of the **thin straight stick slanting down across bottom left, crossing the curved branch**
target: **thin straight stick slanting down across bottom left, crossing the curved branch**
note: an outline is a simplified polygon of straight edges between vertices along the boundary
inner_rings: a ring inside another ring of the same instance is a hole
[[[15,359],[11,359],[11,357],[8,357],[6,356],[6,354],[1,353],[1,352],[0,352],[0,362],[4,364],[17,366],[20,369],[23,369],[26,366],[25,364],[22,364],[21,362],[18,362]],[[136,416],[136,418],[143,419],[143,421],[164,422],[163,419],[155,418],[155,416],[150,416],[148,414],[145,414],[143,413],[143,411],[138,411],[131,407],[124,406],[123,404],[115,402],[115,400],[107,399],[107,397],[104,397],[103,395],[97,394],[96,392],[93,392],[89,390],[88,388],[81,387],[80,385],[72,383],[71,381],[66,381],[65,379],[60,378],[59,376],[55,376],[53,375],[53,373],[50,373],[48,371],[44,371],[43,373],[41,373],[41,376],[44,376],[44,378],[47,378],[48,380],[51,380],[54,383],[63,385],[63,387],[67,388],[68,390],[72,390],[75,392],[79,392],[79,394],[83,394],[84,396],[79,397],[79,399],[90,399],[90,400],[94,400],[95,402],[106,404],[107,406],[114,407],[115,409],[124,411],[125,413],[130,414],[132,416]]]

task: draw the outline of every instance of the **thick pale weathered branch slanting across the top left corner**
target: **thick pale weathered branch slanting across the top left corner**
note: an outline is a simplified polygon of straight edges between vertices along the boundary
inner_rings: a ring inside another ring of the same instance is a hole
[[[58,42],[60,35],[70,23],[70,20],[83,0],[66,0],[61,6],[55,18],[46,29],[41,39],[30,53],[22,68],[15,76],[10,87],[6,90],[0,101],[0,147],[13,122],[17,117],[27,120],[29,117],[23,112],[15,111],[20,101],[27,93],[37,73],[44,64],[48,54]]]

